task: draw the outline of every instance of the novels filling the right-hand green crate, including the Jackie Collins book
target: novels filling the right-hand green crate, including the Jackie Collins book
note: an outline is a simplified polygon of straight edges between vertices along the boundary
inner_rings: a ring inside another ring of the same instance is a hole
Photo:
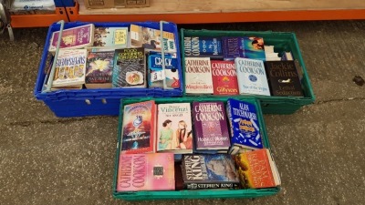
[[[291,52],[276,53],[259,36],[183,39],[187,95],[304,97]]]

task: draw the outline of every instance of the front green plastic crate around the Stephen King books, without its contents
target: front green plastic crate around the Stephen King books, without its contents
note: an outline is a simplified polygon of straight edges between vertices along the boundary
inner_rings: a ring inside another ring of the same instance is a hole
[[[118,144],[117,155],[115,159],[115,170],[113,179],[113,196],[116,199],[122,200],[177,200],[177,199],[213,199],[213,198],[256,198],[269,195],[275,195],[279,192],[280,188],[261,189],[261,190],[169,190],[169,191],[128,191],[117,192],[117,178],[118,178],[118,163],[120,159],[120,134],[123,119],[124,105],[131,103],[155,100],[157,104],[163,103],[180,103],[180,102],[193,102],[193,101],[223,101],[226,103],[229,97],[180,97],[180,98],[130,98],[120,100],[120,118],[118,125]],[[232,97],[237,98],[237,97]],[[240,97],[241,100],[255,104],[257,110],[257,117],[260,123],[260,130],[262,131],[263,145],[265,148],[270,149],[270,143],[267,138],[266,125],[262,115],[262,109],[260,103],[254,97]]]

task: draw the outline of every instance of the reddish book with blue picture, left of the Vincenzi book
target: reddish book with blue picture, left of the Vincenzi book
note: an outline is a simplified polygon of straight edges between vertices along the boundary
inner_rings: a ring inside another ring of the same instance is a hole
[[[155,152],[155,123],[154,100],[124,106],[120,153]]]

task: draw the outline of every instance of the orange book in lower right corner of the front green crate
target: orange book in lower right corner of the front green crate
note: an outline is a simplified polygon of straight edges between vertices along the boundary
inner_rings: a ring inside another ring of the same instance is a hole
[[[280,186],[280,176],[268,149],[257,149],[235,155],[235,165],[244,189]]]

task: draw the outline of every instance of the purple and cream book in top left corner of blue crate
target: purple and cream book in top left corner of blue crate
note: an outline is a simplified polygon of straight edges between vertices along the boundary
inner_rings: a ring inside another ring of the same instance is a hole
[[[62,32],[59,48],[82,48],[93,45],[94,25],[77,26]],[[53,32],[49,52],[56,52],[59,31]]]

